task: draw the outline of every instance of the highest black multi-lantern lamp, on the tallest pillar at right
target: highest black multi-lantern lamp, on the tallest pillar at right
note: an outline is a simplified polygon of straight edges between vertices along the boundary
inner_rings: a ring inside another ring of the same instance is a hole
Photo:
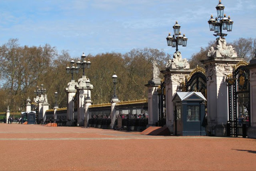
[[[211,16],[210,20],[208,21],[210,31],[214,31],[214,33],[216,33],[214,36],[220,36],[221,38],[227,36],[227,34],[222,33],[222,30],[231,32],[233,25],[233,21],[230,19],[230,16],[227,18],[226,14],[224,14],[223,17],[224,8],[225,6],[223,6],[221,0],[219,0],[219,4],[216,6],[218,17],[214,19],[213,16]]]

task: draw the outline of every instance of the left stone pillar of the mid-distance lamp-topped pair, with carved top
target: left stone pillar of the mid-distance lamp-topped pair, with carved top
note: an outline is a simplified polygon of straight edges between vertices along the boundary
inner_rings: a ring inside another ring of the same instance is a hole
[[[68,87],[65,88],[65,91],[67,93],[67,119],[72,120],[73,119],[73,112],[74,112],[74,103],[73,103],[73,97],[76,94],[76,88],[75,86],[78,85],[75,80],[71,80],[71,82],[68,83]]]

